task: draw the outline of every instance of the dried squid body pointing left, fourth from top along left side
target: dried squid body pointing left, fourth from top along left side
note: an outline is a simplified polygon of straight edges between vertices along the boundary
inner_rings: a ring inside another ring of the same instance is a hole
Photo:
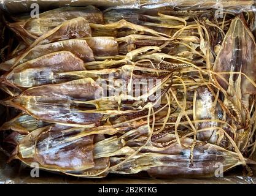
[[[22,88],[60,83],[61,81],[53,79],[55,72],[79,70],[85,70],[83,61],[69,51],[60,51],[20,64],[6,75],[6,83]],[[72,78],[64,78],[63,81],[65,80]]]

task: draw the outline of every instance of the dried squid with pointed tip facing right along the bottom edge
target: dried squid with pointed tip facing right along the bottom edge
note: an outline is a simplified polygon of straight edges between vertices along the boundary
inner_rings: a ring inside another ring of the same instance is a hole
[[[111,172],[130,174],[144,170],[155,178],[208,177],[215,175],[220,164],[223,165],[223,171],[242,164],[237,153],[203,141],[196,141],[195,145],[193,142],[191,138],[180,138],[179,144],[174,134],[165,134],[149,142],[138,154]],[[134,146],[134,143],[130,144]],[[125,159],[111,157],[111,165],[122,160]]]

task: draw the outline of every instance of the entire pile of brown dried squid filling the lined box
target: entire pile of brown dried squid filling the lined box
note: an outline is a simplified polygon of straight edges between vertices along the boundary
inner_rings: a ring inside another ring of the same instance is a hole
[[[13,17],[11,159],[88,178],[214,176],[255,159],[252,12],[62,7]],[[255,159],[256,160],[256,159]]]

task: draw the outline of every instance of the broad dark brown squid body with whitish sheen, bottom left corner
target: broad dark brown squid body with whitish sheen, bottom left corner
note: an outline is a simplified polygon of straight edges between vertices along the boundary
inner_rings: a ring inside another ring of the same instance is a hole
[[[65,132],[61,126],[37,129],[18,143],[15,157],[59,171],[93,167],[93,135],[68,141],[74,134],[76,130]]]

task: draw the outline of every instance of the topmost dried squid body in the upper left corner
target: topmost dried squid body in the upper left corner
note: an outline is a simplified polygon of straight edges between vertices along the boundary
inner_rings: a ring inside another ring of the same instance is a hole
[[[29,18],[17,23],[9,23],[9,28],[29,44],[38,37],[60,26],[65,21],[78,17],[84,18],[90,23],[104,23],[101,11],[94,6],[61,7],[41,13],[39,18]]]

